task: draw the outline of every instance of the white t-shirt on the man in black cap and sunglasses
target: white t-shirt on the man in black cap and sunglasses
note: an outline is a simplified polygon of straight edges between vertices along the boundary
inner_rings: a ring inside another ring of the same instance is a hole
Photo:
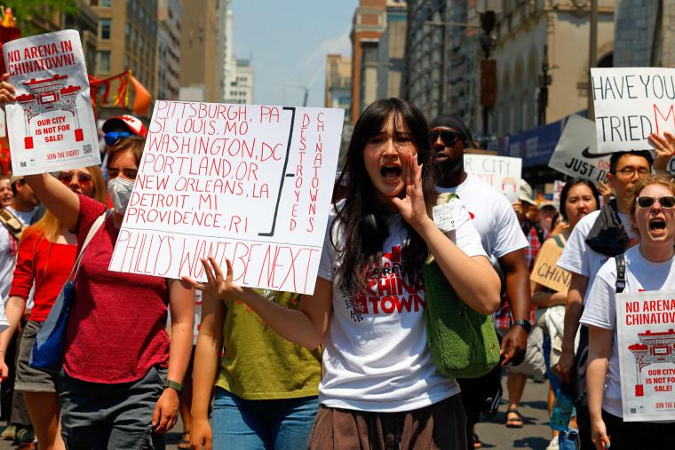
[[[457,193],[473,218],[483,249],[489,256],[500,258],[528,247],[512,204],[485,181],[467,174],[459,186],[436,186],[436,189],[441,193]]]

